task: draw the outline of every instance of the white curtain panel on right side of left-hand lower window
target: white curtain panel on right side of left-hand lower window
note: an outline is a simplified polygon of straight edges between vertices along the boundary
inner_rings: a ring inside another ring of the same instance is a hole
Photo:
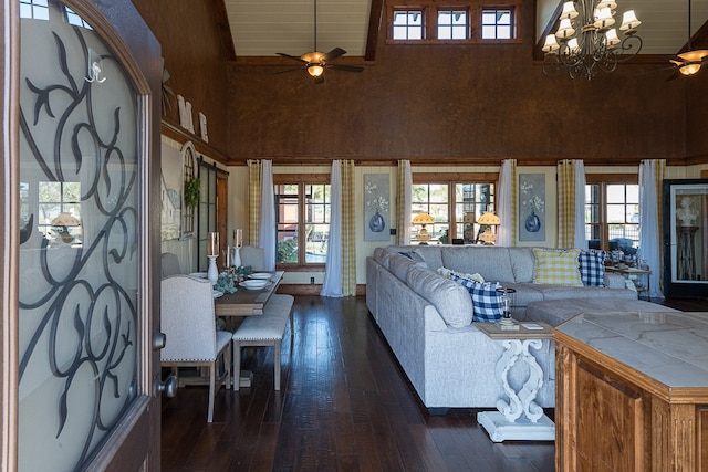
[[[342,161],[332,162],[330,177],[332,208],[330,214],[330,240],[327,260],[324,268],[324,283],[321,296],[342,297]]]

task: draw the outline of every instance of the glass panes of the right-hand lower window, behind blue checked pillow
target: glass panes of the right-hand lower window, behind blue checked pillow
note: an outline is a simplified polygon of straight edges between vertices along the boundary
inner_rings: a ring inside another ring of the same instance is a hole
[[[636,254],[639,247],[639,186],[612,181],[587,183],[585,235],[591,249],[618,249],[625,255]]]

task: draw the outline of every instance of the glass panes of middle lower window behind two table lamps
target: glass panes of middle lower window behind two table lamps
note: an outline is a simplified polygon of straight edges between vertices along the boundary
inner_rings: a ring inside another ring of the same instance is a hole
[[[425,179],[426,176],[414,176],[414,181]],[[412,213],[415,217],[426,212],[435,220],[431,227],[426,227],[433,238],[430,243],[451,244],[452,240],[462,240],[466,244],[470,244],[477,241],[480,233],[477,218],[487,209],[493,210],[493,183],[416,182],[413,185]],[[413,242],[416,241],[419,229],[413,225],[410,231]]]

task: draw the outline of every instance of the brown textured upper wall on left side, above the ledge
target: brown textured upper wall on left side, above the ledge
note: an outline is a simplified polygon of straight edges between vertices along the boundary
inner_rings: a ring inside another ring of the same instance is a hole
[[[198,113],[207,116],[209,144],[228,150],[227,63],[232,48],[225,41],[219,1],[133,0],[136,9],[160,42],[165,66],[171,75],[168,84],[192,104],[195,130],[199,135]],[[227,27],[228,28],[228,27]],[[177,99],[167,113],[179,124]]]

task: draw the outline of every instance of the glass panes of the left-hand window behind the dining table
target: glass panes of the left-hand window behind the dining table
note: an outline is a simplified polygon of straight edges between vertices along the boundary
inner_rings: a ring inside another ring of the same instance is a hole
[[[275,185],[279,264],[324,264],[330,241],[329,183]]]

